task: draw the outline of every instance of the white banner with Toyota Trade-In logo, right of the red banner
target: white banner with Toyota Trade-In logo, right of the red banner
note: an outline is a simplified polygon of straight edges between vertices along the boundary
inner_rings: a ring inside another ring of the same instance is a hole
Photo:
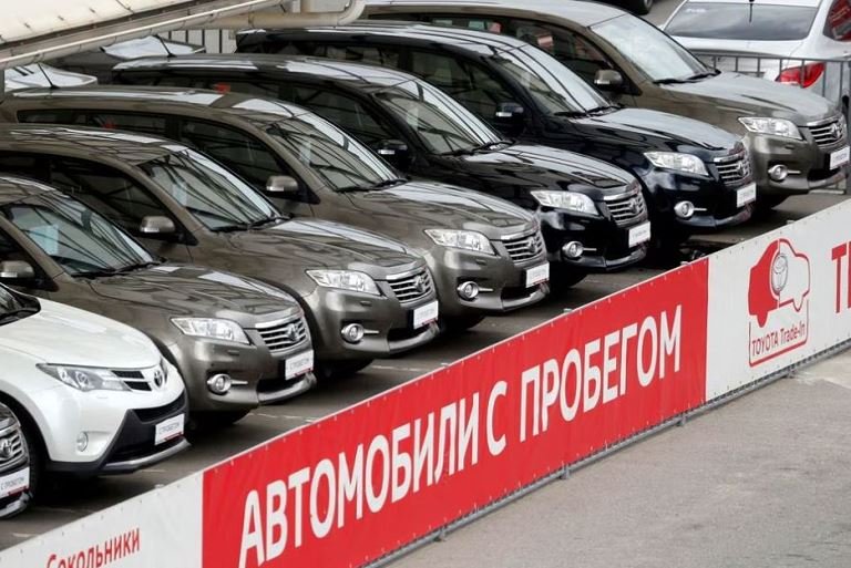
[[[851,338],[851,202],[709,257],[706,400]]]

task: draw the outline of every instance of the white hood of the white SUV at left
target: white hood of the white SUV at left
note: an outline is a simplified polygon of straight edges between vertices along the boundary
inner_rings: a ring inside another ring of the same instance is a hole
[[[133,328],[62,303],[39,302],[39,313],[0,326],[0,353],[14,351],[44,363],[119,369],[160,362],[151,340]]]

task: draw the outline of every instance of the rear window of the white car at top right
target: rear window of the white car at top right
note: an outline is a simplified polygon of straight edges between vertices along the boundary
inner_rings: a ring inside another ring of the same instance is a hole
[[[687,2],[665,31],[712,40],[802,40],[810,33],[816,11],[816,7],[806,6]]]

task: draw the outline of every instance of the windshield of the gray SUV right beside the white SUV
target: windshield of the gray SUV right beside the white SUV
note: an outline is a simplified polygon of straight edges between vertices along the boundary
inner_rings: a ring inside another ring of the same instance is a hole
[[[72,276],[157,262],[120,227],[60,193],[43,193],[4,205],[2,214]]]

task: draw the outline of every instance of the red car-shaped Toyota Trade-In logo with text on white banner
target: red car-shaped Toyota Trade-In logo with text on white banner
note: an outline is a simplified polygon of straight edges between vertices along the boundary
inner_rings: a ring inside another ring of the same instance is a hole
[[[810,317],[810,259],[788,239],[766,247],[750,269],[749,360],[755,366],[807,343]]]

